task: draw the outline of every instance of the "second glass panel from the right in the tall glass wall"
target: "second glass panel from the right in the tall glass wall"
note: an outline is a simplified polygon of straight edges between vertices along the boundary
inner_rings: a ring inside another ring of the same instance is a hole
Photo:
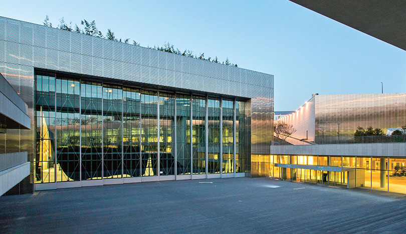
[[[223,100],[223,173],[234,172],[234,107],[233,101]]]

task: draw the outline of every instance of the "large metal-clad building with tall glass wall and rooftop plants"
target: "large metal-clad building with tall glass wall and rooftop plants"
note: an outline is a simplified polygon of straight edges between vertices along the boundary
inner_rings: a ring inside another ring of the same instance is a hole
[[[31,191],[250,176],[269,155],[272,75],[3,17],[0,73],[32,126],[0,151],[28,152]]]

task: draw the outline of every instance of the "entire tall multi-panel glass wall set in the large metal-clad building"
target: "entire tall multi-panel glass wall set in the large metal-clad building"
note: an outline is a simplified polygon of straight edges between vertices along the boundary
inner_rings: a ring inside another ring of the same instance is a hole
[[[35,82],[35,183],[245,172],[243,100],[51,72]]]

